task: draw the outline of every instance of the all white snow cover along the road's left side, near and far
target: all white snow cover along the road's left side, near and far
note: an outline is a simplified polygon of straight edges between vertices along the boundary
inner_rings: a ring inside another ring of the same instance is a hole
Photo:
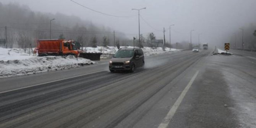
[[[152,49],[151,47],[144,47],[142,49],[145,56],[179,51],[176,49],[170,50],[169,48],[166,48],[164,51],[161,47],[155,49]],[[111,58],[118,49],[117,47],[108,46],[96,48],[83,47],[83,50],[87,53],[101,52],[102,55],[100,58]],[[30,51],[29,55],[28,49],[25,53],[24,49],[0,48],[0,78],[28,75],[45,71],[70,69],[83,65],[91,65],[94,63],[95,62],[91,60],[80,57],[75,58],[74,56],[37,57],[37,55],[33,55],[32,50]]]

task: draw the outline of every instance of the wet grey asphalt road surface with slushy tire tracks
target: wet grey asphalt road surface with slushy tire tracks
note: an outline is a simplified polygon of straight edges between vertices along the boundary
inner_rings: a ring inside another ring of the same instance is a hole
[[[255,128],[256,57],[175,52],[0,79],[0,128]]]

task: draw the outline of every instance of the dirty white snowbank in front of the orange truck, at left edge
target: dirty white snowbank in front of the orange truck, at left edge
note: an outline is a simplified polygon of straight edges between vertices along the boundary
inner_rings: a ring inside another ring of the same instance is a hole
[[[91,60],[75,58],[71,55],[37,57],[32,53],[29,56],[29,53],[25,53],[23,49],[0,48],[0,78],[70,69],[94,63]]]

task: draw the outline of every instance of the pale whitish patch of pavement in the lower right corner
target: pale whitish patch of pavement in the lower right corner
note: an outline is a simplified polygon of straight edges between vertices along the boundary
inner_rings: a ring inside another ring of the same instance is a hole
[[[247,73],[231,73],[225,70],[223,73],[231,98],[235,101],[234,106],[229,108],[237,113],[240,128],[256,128],[256,102],[255,94],[252,94],[255,90],[255,81],[248,79],[251,76]]]

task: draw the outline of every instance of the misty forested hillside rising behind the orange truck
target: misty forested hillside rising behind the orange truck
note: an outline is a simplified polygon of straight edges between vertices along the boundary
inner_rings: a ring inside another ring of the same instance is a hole
[[[114,45],[113,29],[96,26],[76,16],[34,12],[28,6],[16,3],[0,3],[0,39],[7,36],[7,47],[24,48],[29,44],[35,47],[37,39],[50,39],[50,20],[53,18],[52,39],[73,39],[83,46],[92,46],[94,39],[97,45],[104,45],[103,41],[107,38],[106,45]],[[115,41],[121,44],[129,42],[125,34],[118,31],[115,31]]]

